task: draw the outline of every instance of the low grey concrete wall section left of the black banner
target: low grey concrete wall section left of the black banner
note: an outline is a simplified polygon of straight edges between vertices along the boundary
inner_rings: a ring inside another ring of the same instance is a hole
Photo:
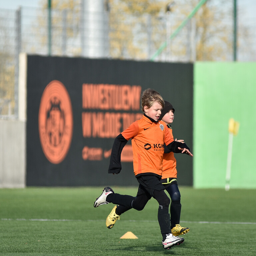
[[[0,120],[0,188],[25,187],[25,122]]]

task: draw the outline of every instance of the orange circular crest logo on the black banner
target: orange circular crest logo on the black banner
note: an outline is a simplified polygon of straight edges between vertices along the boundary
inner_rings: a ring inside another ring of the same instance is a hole
[[[58,164],[66,157],[73,135],[73,113],[66,87],[57,80],[44,89],[38,114],[39,137],[46,158]]]

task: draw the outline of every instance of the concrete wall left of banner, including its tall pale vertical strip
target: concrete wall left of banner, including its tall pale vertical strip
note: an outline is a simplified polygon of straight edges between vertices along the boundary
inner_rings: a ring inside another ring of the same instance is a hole
[[[0,120],[0,188],[26,186],[27,55],[19,56],[19,119]]]

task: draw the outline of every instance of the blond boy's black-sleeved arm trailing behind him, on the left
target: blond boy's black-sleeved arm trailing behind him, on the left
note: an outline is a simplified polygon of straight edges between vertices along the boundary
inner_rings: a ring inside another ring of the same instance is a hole
[[[121,171],[121,153],[127,142],[128,140],[126,140],[121,133],[115,138],[112,146],[108,173],[115,174]]]

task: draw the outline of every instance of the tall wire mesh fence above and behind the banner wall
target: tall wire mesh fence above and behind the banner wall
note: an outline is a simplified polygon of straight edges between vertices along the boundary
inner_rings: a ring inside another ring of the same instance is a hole
[[[193,17],[169,40],[187,14],[115,13],[110,10],[0,9],[0,118],[17,118],[18,55],[153,60],[232,61],[233,21]],[[50,15],[50,16],[49,16]],[[255,25],[239,33],[238,61],[255,61]],[[165,43],[154,59],[152,56]]]

